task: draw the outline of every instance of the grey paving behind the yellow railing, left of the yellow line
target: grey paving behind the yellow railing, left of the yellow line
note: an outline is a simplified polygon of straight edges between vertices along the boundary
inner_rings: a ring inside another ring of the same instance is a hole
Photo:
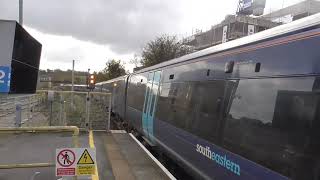
[[[80,147],[89,147],[88,135],[79,136]],[[0,164],[55,163],[56,148],[73,147],[70,133],[0,134]],[[56,180],[55,167],[0,170],[0,180]]]

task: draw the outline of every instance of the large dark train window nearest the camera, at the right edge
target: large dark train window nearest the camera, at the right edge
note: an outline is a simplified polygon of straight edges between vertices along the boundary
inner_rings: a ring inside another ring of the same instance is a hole
[[[320,177],[319,79],[236,82],[223,146],[294,180]]]

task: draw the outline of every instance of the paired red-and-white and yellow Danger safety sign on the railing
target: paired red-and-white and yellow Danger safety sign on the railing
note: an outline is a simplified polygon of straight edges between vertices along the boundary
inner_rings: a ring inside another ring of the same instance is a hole
[[[96,171],[94,148],[56,149],[56,176],[93,175]]]

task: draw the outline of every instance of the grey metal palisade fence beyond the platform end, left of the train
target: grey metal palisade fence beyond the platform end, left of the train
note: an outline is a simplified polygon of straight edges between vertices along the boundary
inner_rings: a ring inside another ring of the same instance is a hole
[[[0,127],[78,126],[106,130],[111,94],[38,91],[32,95],[0,95]]]

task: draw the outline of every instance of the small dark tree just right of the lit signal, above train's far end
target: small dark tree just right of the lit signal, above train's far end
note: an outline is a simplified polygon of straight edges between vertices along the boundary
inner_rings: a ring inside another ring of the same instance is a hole
[[[126,74],[126,70],[124,66],[120,63],[120,60],[109,60],[106,63],[106,67],[96,74],[96,81],[102,82],[107,81],[109,79],[113,79],[119,76],[123,76]]]

